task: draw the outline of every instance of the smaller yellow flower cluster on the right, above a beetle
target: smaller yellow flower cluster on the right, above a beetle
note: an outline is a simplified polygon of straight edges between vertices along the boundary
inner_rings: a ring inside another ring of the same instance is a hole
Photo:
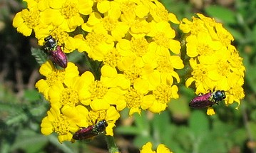
[[[225,90],[225,104],[235,101],[240,105],[240,100],[245,97],[242,88],[245,67],[238,51],[231,45],[234,38],[221,23],[202,14],[197,16],[193,21],[183,19],[180,23],[180,29],[186,33],[186,51],[192,68],[185,85],[195,83],[197,94]],[[213,115],[215,112],[209,107],[207,113]]]

